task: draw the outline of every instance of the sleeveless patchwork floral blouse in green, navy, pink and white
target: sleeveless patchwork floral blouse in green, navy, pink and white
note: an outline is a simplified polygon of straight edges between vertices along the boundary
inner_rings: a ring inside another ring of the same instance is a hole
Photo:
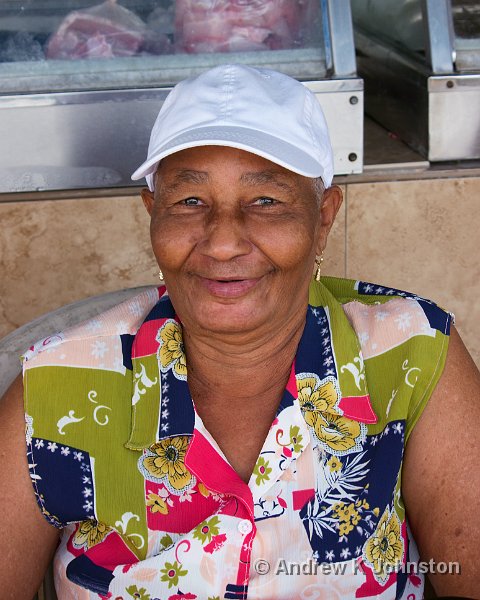
[[[59,597],[421,598],[402,458],[451,319],[400,290],[312,282],[248,484],[195,412],[164,287],[35,344],[24,356],[28,463],[62,530]]]

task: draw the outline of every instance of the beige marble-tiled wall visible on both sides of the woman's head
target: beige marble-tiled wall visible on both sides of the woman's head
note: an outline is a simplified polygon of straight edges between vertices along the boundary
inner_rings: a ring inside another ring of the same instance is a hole
[[[347,183],[324,272],[427,296],[480,365],[480,177]],[[0,202],[0,337],[63,304],[154,284],[139,197]]]

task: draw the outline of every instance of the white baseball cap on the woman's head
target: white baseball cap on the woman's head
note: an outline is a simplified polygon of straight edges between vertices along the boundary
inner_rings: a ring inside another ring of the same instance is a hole
[[[158,163],[195,146],[252,152],[305,177],[333,178],[323,111],[302,83],[270,69],[221,65],[177,84],[152,129],[145,162],[132,179],[154,189]]]

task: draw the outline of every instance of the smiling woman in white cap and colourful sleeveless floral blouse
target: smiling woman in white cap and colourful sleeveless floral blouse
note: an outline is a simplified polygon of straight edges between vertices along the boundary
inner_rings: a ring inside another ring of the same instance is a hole
[[[60,598],[420,598],[414,538],[474,597],[478,372],[430,301],[319,281],[332,175],[286,76],[170,94],[134,174],[166,288],[27,352],[30,477],[21,382],[1,405],[6,598],[59,530]]]

